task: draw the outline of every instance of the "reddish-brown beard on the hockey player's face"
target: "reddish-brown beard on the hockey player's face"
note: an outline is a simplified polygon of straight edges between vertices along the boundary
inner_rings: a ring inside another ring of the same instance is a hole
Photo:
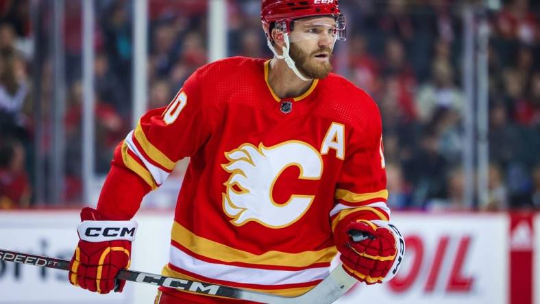
[[[311,55],[315,53],[320,53],[322,51],[328,53],[328,62],[319,63],[310,60]],[[291,43],[291,50],[289,51],[289,55],[291,55],[291,58],[295,61],[295,65],[296,68],[298,68],[298,71],[307,78],[323,79],[328,76],[330,71],[332,71],[332,64],[330,64],[330,60],[332,59],[331,49],[318,49],[317,51],[306,55],[306,52],[302,51],[302,49],[297,47],[295,43]]]

